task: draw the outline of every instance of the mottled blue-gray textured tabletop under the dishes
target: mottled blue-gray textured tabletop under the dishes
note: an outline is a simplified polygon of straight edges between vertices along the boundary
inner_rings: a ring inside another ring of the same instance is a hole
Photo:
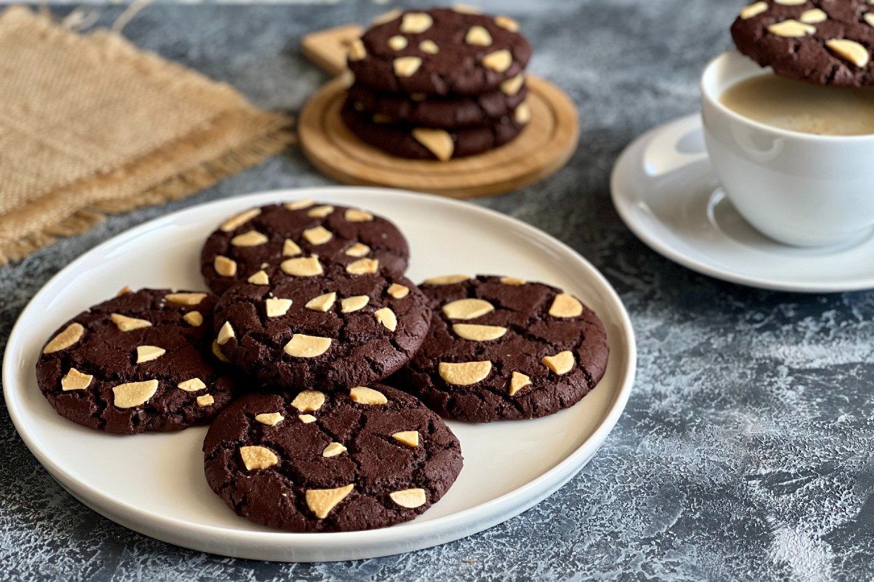
[[[454,544],[332,565],[187,551],[125,530],[52,481],[0,411],[0,580],[871,579],[874,576],[874,294],[740,288],[678,267],[621,224],[609,170],[635,135],[697,109],[697,75],[729,45],[739,3],[538,2],[519,17],[531,69],[579,104],[582,141],[542,184],[483,204],[576,248],[619,290],[638,333],[628,409],[593,461],[550,499]],[[68,9],[62,10],[66,11]],[[325,78],[297,52],[306,31],[364,21],[370,3],[153,6],[137,45],[300,107]],[[107,9],[109,22],[118,9]],[[299,154],[196,197],[110,218],[0,269],[0,337],[67,261],[132,225],[205,200],[326,184]]]

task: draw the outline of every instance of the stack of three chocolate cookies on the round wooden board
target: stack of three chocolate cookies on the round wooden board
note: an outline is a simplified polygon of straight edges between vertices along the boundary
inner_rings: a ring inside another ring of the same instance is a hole
[[[531,119],[529,59],[510,17],[394,10],[350,46],[343,121],[393,156],[445,162],[489,151]]]

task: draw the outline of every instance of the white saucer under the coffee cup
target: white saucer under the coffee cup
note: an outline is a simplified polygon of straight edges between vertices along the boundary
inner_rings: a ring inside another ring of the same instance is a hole
[[[874,288],[874,237],[825,248],[786,246],[753,229],[725,197],[704,149],[700,115],[632,142],[611,177],[622,220],[655,252],[741,285],[830,293]]]

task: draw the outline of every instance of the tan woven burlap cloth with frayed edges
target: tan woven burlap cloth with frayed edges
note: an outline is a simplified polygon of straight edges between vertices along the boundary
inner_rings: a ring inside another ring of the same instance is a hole
[[[283,149],[290,120],[232,87],[80,35],[23,7],[0,14],[0,265],[106,213],[184,197]]]

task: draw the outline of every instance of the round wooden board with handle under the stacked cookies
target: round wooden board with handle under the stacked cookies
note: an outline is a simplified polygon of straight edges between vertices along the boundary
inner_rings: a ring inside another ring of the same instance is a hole
[[[337,52],[360,34],[357,26],[317,32],[304,38],[304,53],[336,73],[343,66]],[[549,81],[530,76],[526,83],[531,121],[512,142],[448,162],[390,156],[359,140],[340,119],[350,82],[344,74],[330,81],[303,107],[298,121],[304,154],[323,174],[343,184],[391,186],[454,198],[500,194],[554,173],[567,163],[579,141],[577,110],[570,98]]]

